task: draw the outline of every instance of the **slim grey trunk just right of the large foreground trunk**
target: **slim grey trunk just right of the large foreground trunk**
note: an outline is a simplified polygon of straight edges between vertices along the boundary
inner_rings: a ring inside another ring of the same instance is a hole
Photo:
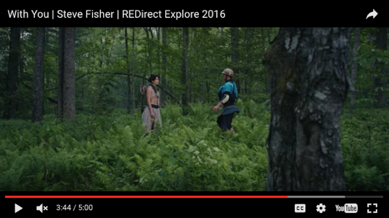
[[[356,79],[358,78],[358,57],[359,39],[361,34],[361,28],[356,27],[354,29],[354,48],[353,48],[353,65],[351,68],[351,83],[355,87]],[[355,111],[355,89],[350,90],[350,113],[353,114]]]

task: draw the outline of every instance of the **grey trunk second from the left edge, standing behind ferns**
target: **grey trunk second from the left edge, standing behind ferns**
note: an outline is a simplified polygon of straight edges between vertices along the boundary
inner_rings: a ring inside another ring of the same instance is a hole
[[[45,46],[45,28],[36,28],[35,66],[34,66],[34,95],[32,121],[43,119],[43,53]]]

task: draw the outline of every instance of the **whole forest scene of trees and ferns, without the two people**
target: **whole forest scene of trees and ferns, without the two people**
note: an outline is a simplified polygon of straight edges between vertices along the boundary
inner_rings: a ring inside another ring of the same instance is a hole
[[[388,34],[2,27],[0,190],[389,191]],[[226,68],[236,133],[212,110]]]

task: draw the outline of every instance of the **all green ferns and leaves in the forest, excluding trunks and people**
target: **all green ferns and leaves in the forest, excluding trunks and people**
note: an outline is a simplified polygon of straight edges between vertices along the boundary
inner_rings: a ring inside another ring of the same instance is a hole
[[[151,30],[151,31],[150,31]],[[135,28],[134,71],[148,77],[160,73],[167,90],[177,98],[186,94],[182,83],[182,28]],[[372,76],[384,78],[388,50],[377,50],[361,29],[356,81],[356,114],[342,119],[342,151],[349,190],[389,190],[388,111],[373,110]],[[4,108],[9,28],[0,28],[0,111]],[[44,54],[45,120],[40,123],[0,121],[0,190],[252,190],[265,189],[265,139],[269,123],[269,95],[264,93],[267,73],[261,59],[277,28],[239,28],[239,57],[231,63],[230,28],[190,28],[188,71],[192,103],[185,109],[162,109],[159,134],[143,137],[141,112],[129,116],[126,75],[132,62],[132,28],[76,28],[75,124],[55,119],[57,105],[58,28],[49,28]],[[159,35],[158,35],[159,33]],[[159,41],[158,41],[159,40]],[[31,119],[35,28],[22,28],[18,118]],[[162,56],[167,58],[162,71]],[[375,64],[375,65],[373,65]],[[221,134],[212,111],[216,90],[224,83],[220,71],[231,67],[239,80],[237,102],[241,113],[233,125],[237,134]],[[389,76],[389,74],[387,74]],[[130,77],[130,82],[133,78]],[[135,78],[135,102],[141,106]],[[161,91],[161,93],[163,93]],[[389,95],[387,95],[389,96]],[[167,98],[169,100],[169,98]],[[145,100],[143,99],[143,102]],[[258,104],[256,102],[263,102]],[[122,109],[118,109],[122,108]],[[91,112],[91,113],[88,113]],[[226,140],[226,137],[228,140]]]

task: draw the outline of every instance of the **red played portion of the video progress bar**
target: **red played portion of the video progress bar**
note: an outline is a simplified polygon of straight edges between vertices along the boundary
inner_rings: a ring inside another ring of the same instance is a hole
[[[5,198],[287,198],[288,196],[5,196]]]

